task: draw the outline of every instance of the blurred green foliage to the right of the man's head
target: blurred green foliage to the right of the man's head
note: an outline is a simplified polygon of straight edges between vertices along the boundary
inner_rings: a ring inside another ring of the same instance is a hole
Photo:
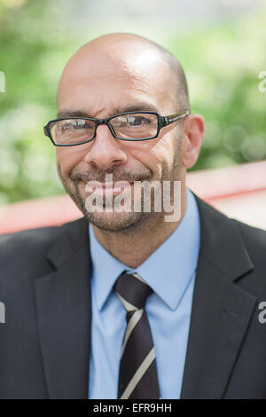
[[[266,13],[176,39],[170,50],[187,73],[192,111],[206,120],[200,159],[208,169],[266,158],[266,94],[259,74],[266,69]]]

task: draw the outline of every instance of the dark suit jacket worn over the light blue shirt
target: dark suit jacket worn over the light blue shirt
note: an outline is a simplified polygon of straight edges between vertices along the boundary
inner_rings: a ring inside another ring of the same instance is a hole
[[[181,397],[266,398],[266,324],[258,319],[266,232],[197,202],[200,256]],[[0,398],[88,397],[87,226],[81,218],[0,237]]]

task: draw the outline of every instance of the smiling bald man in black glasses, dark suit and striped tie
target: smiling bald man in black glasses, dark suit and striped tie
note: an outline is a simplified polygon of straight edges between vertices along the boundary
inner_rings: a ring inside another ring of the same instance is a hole
[[[58,106],[45,133],[84,216],[0,239],[0,397],[266,398],[266,233],[186,188],[204,123],[180,64],[101,36],[66,64]],[[171,188],[145,210],[136,183]],[[155,209],[167,197],[180,216]]]

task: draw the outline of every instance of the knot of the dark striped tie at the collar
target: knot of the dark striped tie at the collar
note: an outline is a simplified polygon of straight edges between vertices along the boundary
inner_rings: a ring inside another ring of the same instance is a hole
[[[126,311],[143,309],[147,296],[153,291],[137,272],[122,272],[114,284],[114,290]]]

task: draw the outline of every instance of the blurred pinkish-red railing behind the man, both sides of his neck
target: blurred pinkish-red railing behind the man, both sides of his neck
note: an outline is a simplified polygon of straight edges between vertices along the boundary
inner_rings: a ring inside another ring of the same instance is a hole
[[[217,209],[215,202],[221,199],[244,194],[252,199],[254,193],[266,191],[266,161],[188,173],[187,185]],[[81,216],[68,195],[22,201],[0,208],[0,233],[64,224]]]

